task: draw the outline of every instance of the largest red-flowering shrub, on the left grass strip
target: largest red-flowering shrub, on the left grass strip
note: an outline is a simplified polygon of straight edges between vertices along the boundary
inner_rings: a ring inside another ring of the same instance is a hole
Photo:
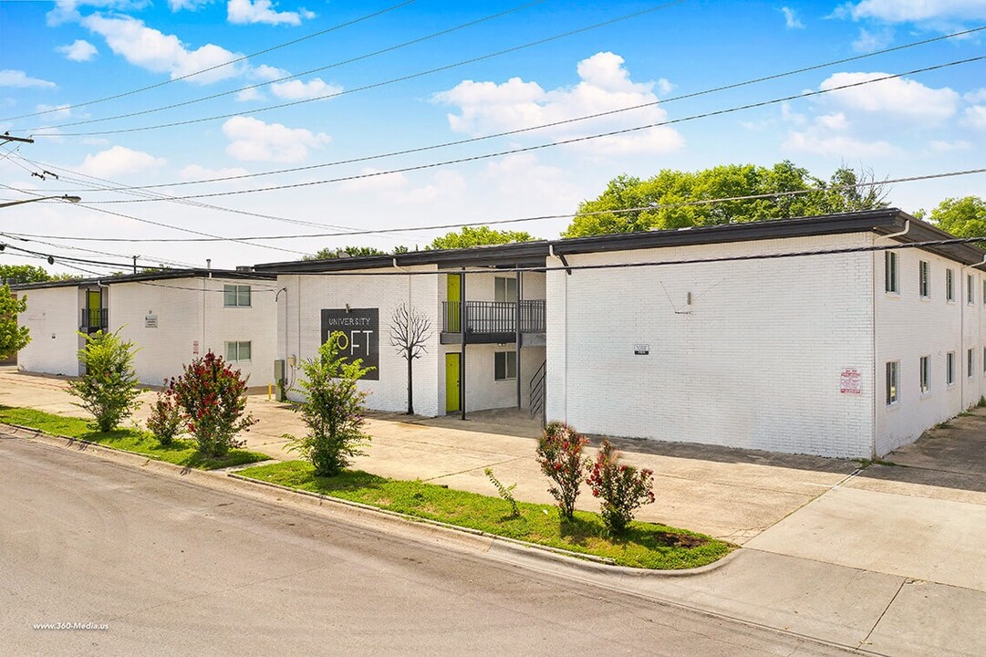
[[[175,382],[175,401],[204,456],[222,457],[242,447],[241,431],[257,420],[246,413],[246,379],[211,351],[183,366]]]

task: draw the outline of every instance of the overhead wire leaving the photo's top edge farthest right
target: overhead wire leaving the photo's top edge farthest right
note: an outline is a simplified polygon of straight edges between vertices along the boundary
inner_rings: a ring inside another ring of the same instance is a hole
[[[404,76],[397,77],[397,78],[391,78],[389,80],[384,80],[382,82],[375,82],[373,84],[364,85],[362,87],[354,87],[352,89],[344,89],[343,91],[338,92],[338,93],[335,93],[335,94],[325,94],[324,96],[317,96],[315,98],[308,98],[308,99],[302,99],[302,100],[299,100],[299,101],[292,101],[290,103],[281,103],[281,104],[278,104],[278,105],[270,105],[270,106],[265,106],[263,108],[256,108],[254,110],[249,110],[249,111],[250,111],[250,113],[259,113],[261,111],[268,111],[268,110],[281,110],[283,108],[290,108],[290,107],[294,107],[294,106],[297,106],[297,105],[303,105],[303,104],[306,104],[306,103],[314,103],[316,101],[324,101],[326,99],[336,98],[336,97],[339,97],[339,96],[345,96],[345,95],[348,95],[348,94],[354,94],[356,92],[367,91],[367,90],[370,90],[370,89],[377,89],[377,88],[380,88],[380,87],[385,87],[387,85],[395,84],[397,82],[406,82],[407,80],[414,80],[415,78],[424,77],[426,75],[432,75],[433,73],[440,73],[442,71],[448,71],[448,70],[451,70],[451,69],[454,69],[454,68],[465,66],[466,64],[474,64],[475,62],[478,62],[478,61],[484,61],[486,59],[491,59],[493,57],[499,57],[501,55],[509,54],[511,52],[517,52],[519,50],[524,50],[524,49],[533,47],[535,45],[541,45],[543,43],[549,43],[551,41],[558,40],[560,38],[571,37],[573,35],[578,35],[578,34],[581,34],[581,33],[584,33],[584,32],[589,32],[591,30],[598,30],[599,28],[610,26],[610,25],[613,25],[615,23],[619,23],[619,22],[622,22],[622,21],[628,21],[630,19],[637,18],[637,17],[643,16],[645,14],[650,14],[652,12],[656,12],[656,11],[661,10],[661,9],[667,9],[668,7],[671,7],[671,6],[674,6],[674,5],[679,5],[682,2],[684,2],[684,1],[685,0],[674,0],[673,2],[669,2],[669,3],[666,3],[666,4],[658,5],[656,7],[651,7],[649,9],[645,9],[645,10],[642,10],[642,11],[639,11],[639,12],[634,12],[633,14],[626,14],[624,16],[620,16],[620,17],[617,17],[617,18],[614,18],[614,19],[610,19],[608,21],[603,21],[601,23],[597,23],[595,25],[587,26],[585,28],[579,28],[577,30],[571,30],[569,32],[565,32],[565,33],[561,33],[561,34],[558,34],[558,35],[554,35],[552,37],[540,38],[540,39],[537,39],[535,41],[528,41],[527,43],[522,43],[521,45],[515,45],[513,47],[509,47],[509,48],[506,48],[504,50],[498,50],[496,52],[491,52],[491,53],[488,53],[488,54],[480,55],[478,57],[471,57],[469,59],[463,59],[463,60],[458,61],[458,62],[455,62],[453,64],[446,64],[444,66],[439,66],[437,68],[432,68],[432,69],[429,69],[427,71],[419,71],[417,73],[410,73],[408,75],[404,75]],[[199,118],[189,118],[189,119],[185,119],[185,120],[181,120],[181,121],[172,121],[170,123],[159,123],[159,124],[156,124],[156,125],[145,125],[145,126],[133,127],[133,128],[120,128],[120,129],[116,129],[116,130],[102,130],[102,131],[94,131],[94,132],[52,132],[50,134],[36,133],[35,136],[36,137],[47,137],[47,136],[85,137],[85,136],[93,136],[93,135],[121,134],[121,133],[125,133],[125,132],[143,132],[145,130],[158,130],[158,129],[166,128],[166,127],[177,127],[179,125],[191,125],[191,124],[194,124],[194,123],[203,123],[205,121],[218,120],[220,118],[231,118],[233,116],[239,116],[239,115],[241,115],[243,113],[244,112],[242,112],[242,111],[235,111],[235,112],[226,113],[226,114],[215,114],[213,116],[202,116],[202,117],[199,117]],[[66,126],[70,126],[70,125],[77,125],[77,124],[78,123],[61,123],[61,124],[58,124],[58,125],[48,125],[48,126],[41,126],[41,127],[34,127],[34,128],[22,128],[22,129],[19,129],[17,131],[18,132],[29,132],[30,133],[30,132],[33,132],[35,130],[60,129],[62,127],[66,127]]]

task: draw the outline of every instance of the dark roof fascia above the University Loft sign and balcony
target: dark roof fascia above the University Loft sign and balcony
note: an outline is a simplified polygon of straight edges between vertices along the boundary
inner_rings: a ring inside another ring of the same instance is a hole
[[[381,269],[385,267],[437,264],[439,268],[491,266],[544,266],[548,255],[548,242],[516,242],[468,249],[442,249],[413,251],[396,255],[364,255],[357,257],[333,257],[325,260],[293,260],[289,262],[265,262],[253,268],[258,272],[281,274],[321,273],[351,271],[354,269]]]

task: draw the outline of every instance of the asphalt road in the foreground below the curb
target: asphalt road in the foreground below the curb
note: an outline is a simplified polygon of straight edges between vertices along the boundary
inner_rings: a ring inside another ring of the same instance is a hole
[[[91,454],[0,464],[0,655],[847,654]]]

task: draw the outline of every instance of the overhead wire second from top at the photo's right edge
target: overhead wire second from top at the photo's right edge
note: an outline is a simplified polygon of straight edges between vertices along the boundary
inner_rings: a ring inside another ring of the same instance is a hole
[[[633,132],[639,132],[641,130],[647,130],[647,129],[650,129],[650,128],[662,127],[662,126],[666,126],[666,125],[673,125],[675,123],[684,123],[684,122],[693,121],[693,120],[697,120],[697,119],[701,119],[701,118],[710,118],[712,116],[721,116],[721,115],[735,113],[737,111],[742,111],[742,110],[753,110],[753,109],[756,109],[756,108],[763,108],[763,107],[767,107],[767,106],[770,106],[770,105],[776,105],[778,103],[786,103],[786,102],[789,102],[789,101],[803,100],[803,99],[811,98],[811,97],[814,97],[814,96],[821,96],[823,94],[830,94],[832,92],[842,91],[842,90],[845,90],[845,89],[852,89],[852,88],[857,88],[857,87],[864,87],[866,85],[875,84],[877,82],[884,82],[886,80],[892,80],[892,79],[895,79],[895,78],[900,78],[900,77],[903,77],[905,75],[914,75],[916,73],[926,73],[928,71],[940,70],[940,69],[948,68],[950,66],[958,66],[958,65],[961,65],[961,64],[969,64],[969,63],[973,63],[973,62],[977,62],[977,61],[982,61],[984,59],[986,59],[986,55],[980,55],[978,57],[969,57],[967,59],[958,59],[958,60],[947,62],[947,63],[944,63],[944,64],[936,64],[934,66],[925,66],[923,68],[916,68],[916,69],[913,69],[913,70],[910,70],[910,71],[904,71],[903,73],[894,73],[894,74],[890,74],[890,75],[884,75],[884,76],[882,76],[880,78],[874,78],[874,79],[871,79],[871,80],[862,80],[860,82],[848,83],[848,84],[844,84],[844,85],[839,85],[837,87],[829,87],[829,88],[826,88],[826,89],[819,89],[819,90],[815,90],[815,91],[804,92],[804,93],[796,94],[796,95],[793,95],[793,96],[784,96],[784,97],[781,97],[781,98],[775,98],[775,99],[772,99],[772,100],[769,100],[769,101],[760,101],[758,103],[750,103],[750,104],[747,104],[747,105],[741,105],[741,106],[734,107],[734,108],[728,108],[726,110],[706,111],[706,112],[702,112],[702,113],[699,113],[699,114],[691,114],[689,116],[682,116],[680,118],[670,118],[668,120],[658,121],[658,122],[655,122],[655,123],[647,123],[645,125],[638,125],[638,126],[635,126],[635,127],[622,128],[622,129],[618,129],[618,130],[609,130],[607,132],[599,132],[599,133],[596,133],[596,134],[585,135],[585,136],[581,136],[581,137],[571,137],[571,138],[568,138],[568,139],[561,139],[561,140],[553,141],[553,142],[549,142],[549,143],[535,144],[533,146],[523,146],[523,147],[512,148],[512,149],[503,150],[503,151],[496,151],[496,152],[493,152],[493,153],[484,153],[482,155],[472,155],[472,156],[467,156],[467,157],[462,157],[462,158],[456,158],[456,159],[453,159],[453,160],[444,160],[444,161],[441,161],[441,162],[432,162],[432,163],[427,163],[427,164],[423,164],[423,165],[415,165],[415,166],[411,166],[411,167],[402,167],[400,169],[389,169],[387,171],[381,171],[381,172],[370,172],[370,173],[358,174],[358,175],[354,175],[354,176],[343,176],[343,177],[339,177],[339,178],[325,179],[325,180],[321,180],[321,181],[309,181],[309,182],[305,182],[305,183],[277,184],[277,185],[270,185],[270,186],[266,186],[266,187],[253,187],[253,188],[250,188],[250,189],[237,189],[237,190],[230,190],[230,191],[214,191],[214,192],[210,192],[210,193],[200,193],[200,194],[186,194],[186,195],[182,195],[182,196],[174,196],[174,198],[211,198],[211,197],[216,197],[216,196],[234,196],[234,195],[240,195],[240,194],[257,193],[257,192],[261,192],[261,191],[274,191],[274,190],[278,190],[278,189],[297,189],[297,188],[300,188],[300,187],[315,186],[317,184],[342,183],[342,182],[346,182],[346,181],[357,181],[357,180],[364,180],[364,179],[369,179],[369,178],[378,178],[380,176],[388,176],[388,175],[391,175],[391,174],[403,174],[403,173],[408,173],[408,172],[424,171],[424,170],[428,170],[428,169],[436,169],[438,167],[445,167],[445,166],[454,165],[454,164],[462,164],[462,163],[465,163],[465,162],[477,162],[479,160],[488,160],[488,159],[491,159],[491,158],[503,157],[505,155],[515,155],[517,153],[528,153],[528,152],[531,152],[531,151],[543,150],[543,149],[552,148],[552,147],[555,147],[555,146],[564,146],[564,145],[567,145],[567,144],[576,144],[576,143],[582,143],[582,142],[592,141],[593,139],[599,139],[601,137],[612,137],[612,136],[616,136],[616,135],[630,134],[630,133],[633,133]],[[110,203],[141,203],[141,202],[147,202],[147,201],[150,201],[150,200],[154,200],[154,199],[90,201],[88,203],[82,203],[82,204],[83,205],[87,205],[87,206],[92,206],[92,205],[105,205],[105,204],[110,204]]]

